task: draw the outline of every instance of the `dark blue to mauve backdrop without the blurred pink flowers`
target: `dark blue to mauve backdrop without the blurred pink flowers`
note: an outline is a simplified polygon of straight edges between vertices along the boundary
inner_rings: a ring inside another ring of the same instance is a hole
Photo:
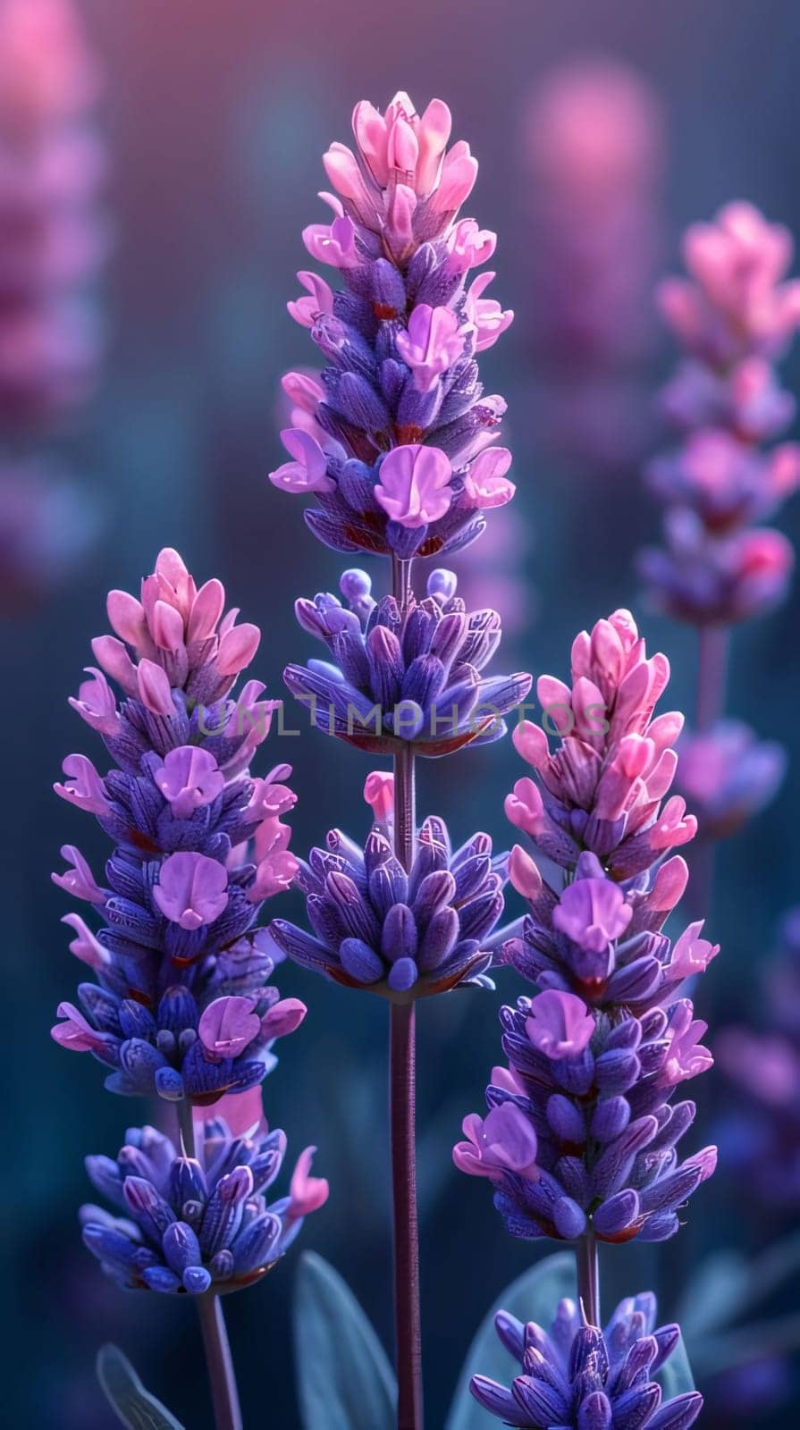
[[[59,924],[69,905],[49,871],[62,842],[80,844],[97,867],[106,852],[99,831],[50,792],[69,751],[102,758],[66,696],[87,664],[90,636],[106,629],[104,591],[136,589],[157,549],[176,545],[200,579],[222,576],[245,619],[263,626],[256,674],[272,694],[281,692],[285,661],[308,654],[292,602],[333,583],[341,563],[306,533],[302,503],[266,482],[281,460],[279,375],[313,360],[285,302],[295,296],[295,270],[308,263],[301,227],[321,217],[322,150],[348,137],[355,99],[384,104],[404,87],[418,104],[431,94],[447,99],[457,134],[478,154],[469,212],[499,233],[495,287],[518,315],[485,358],[489,390],[509,400],[515,515],[534,533],[524,569],[530,619],[507,664],[564,675],[575,631],[615,605],[633,605],[651,645],[674,662],[673,702],[688,702],[693,639],[644,616],[631,571],[638,542],[657,528],[637,475],[610,476],[591,463],[564,468],[545,456],[530,419],[535,253],[519,107],[531,82],[557,60],[601,50],[634,61],[667,104],[670,263],[677,263],[686,223],[727,199],[748,197],[797,230],[800,14],[790,0],[405,0],[386,7],[92,0],[86,13],[107,69],[119,233],[107,287],[106,382],[86,430],[63,450],[87,475],[104,539],[59,599],[1,632],[3,1228],[11,1257],[6,1341],[17,1367],[10,1423],[109,1426],[92,1361],[112,1336],[195,1427],[208,1423],[208,1411],[192,1307],[120,1296],[83,1251],[74,1221],[87,1193],[84,1153],[114,1151],[126,1125],[147,1114],[104,1094],[100,1068],[67,1057],[47,1035],[57,1001],[73,995],[79,975]],[[664,343],[653,370],[641,373],[644,390],[655,388],[670,360]],[[790,386],[799,376],[793,358]],[[800,503],[781,523],[797,539]],[[479,545],[471,559],[481,562]],[[791,762],[774,807],[721,852],[713,932],[724,957],[700,994],[714,1027],[751,1007],[777,915],[797,898],[797,616],[794,595],[736,636],[730,706],[781,739]],[[308,729],[282,745],[265,759],[295,764],[295,849],[336,824],[361,838],[369,761]],[[505,841],[502,795],[518,772],[509,745],[426,765],[422,811],[445,814],[458,842],[475,827]],[[291,897],[281,911],[289,907]],[[295,1150],[319,1145],[318,1167],[332,1184],[305,1244],[348,1277],[389,1343],[386,1010],[301,970],[282,971],[279,981],[306,1000],[309,1015],[266,1084],[268,1114]],[[498,1057],[495,1008],[515,991],[505,977],[497,995],[459,994],[419,1014],[422,1296],[434,1430],[485,1307],[541,1254],[511,1241],[488,1188],[451,1164],[461,1117],[481,1107]],[[721,1074],[704,1081],[713,1080],[721,1085]],[[718,1094],[701,1091],[707,1113]],[[769,1233],[747,1188],[733,1188],[724,1174],[698,1194],[690,1221],[683,1267],[716,1244],[756,1244]],[[674,1244],[647,1254],[611,1248],[607,1261],[624,1267],[624,1288],[633,1291],[658,1281],[658,1266],[674,1256]],[[293,1260],[228,1303],[248,1426],[296,1423],[288,1358]],[[681,1274],[678,1267],[673,1287]]]

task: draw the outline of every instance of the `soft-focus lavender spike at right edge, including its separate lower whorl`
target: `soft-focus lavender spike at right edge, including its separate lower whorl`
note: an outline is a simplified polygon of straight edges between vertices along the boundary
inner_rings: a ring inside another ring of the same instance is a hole
[[[784,764],[723,716],[730,628],[783,601],[794,566],[786,536],[753,522],[800,485],[800,446],[764,445],[794,416],[776,363],[800,327],[800,280],[787,279],[789,232],[748,203],[693,225],[683,256],[688,276],[658,289],[684,353],[663,395],[681,440],[645,469],[665,542],[638,565],[651,601],[700,632],[697,732],[681,742],[678,782],[716,839],[771,798]],[[711,872],[707,861],[707,881]]]

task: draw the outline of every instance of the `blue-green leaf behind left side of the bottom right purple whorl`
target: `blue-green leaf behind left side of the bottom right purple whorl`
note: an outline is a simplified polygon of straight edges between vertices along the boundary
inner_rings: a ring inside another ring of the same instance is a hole
[[[555,1316],[558,1301],[565,1296],[575,1296],[575,1257],[570,1251],[558,1251],[555,1256],[545,1257],[544,1261],[538,1261],[537,1266],[517,1277],[511,1286],[507,1286],[481,1321],[467,1353],[447,1430],[492,1430],[497,1427],[497,1420],[469,1394],[469,1381],[472,1376],[481,1374],[508,1386],[512,1377],[519,1374],[519,1364],[508,1354],[497,1334],[494,1324],[497,1313],[508,1311],[519,1321],[538,1321],[547,1327]]]

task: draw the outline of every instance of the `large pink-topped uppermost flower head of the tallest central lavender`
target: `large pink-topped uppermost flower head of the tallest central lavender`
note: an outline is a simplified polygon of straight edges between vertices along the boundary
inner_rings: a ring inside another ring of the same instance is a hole
[[[458,551],[514,495],[511,453],[492,445],[505,402],[484,396],[477,363],[512,313],[484,296],[492,273],[468,282],[497,236],[457,217],[478,166],[465,143],[447,149],[447,104],[416,114],[399,93],[385,114],[356,104],[352,123],[356,153],[323,156],[333,222],[303,230],[345,287],[298,275],[306,292],[289,312],[325,368],[283,379],[289,460],[270,479],[313,493],[306,522],[335,551]]]

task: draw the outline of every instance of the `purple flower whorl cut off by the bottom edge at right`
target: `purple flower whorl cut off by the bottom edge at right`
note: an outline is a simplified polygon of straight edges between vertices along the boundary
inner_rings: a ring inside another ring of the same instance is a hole
[[[471,1391],[492,1416],[521,1430],[688,1430],[703,1409],[690,1391],[663,1400],[651,1377],[675,1350],[677,1326],[655,1328],[655,1297],[621,1301],[604,1331],[587,1326],[574,1301],[564,1300],[550,1331],[522,1326],[507,1311],[497,1333],[522,1370],[511,1389],[474,1376]]]

